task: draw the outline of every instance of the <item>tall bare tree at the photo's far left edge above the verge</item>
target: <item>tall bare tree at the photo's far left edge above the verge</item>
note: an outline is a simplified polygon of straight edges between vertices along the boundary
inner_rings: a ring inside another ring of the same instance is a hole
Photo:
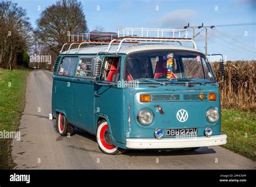
[[[0,67],[17,66],[17,56],[28,50],[32,27],[26,11],[10,1],[0,2]]]

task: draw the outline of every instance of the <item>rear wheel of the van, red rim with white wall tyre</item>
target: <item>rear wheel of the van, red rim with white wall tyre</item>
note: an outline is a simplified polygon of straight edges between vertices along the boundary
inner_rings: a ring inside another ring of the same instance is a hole
[[[74,127],[69,124],[68,119],[66,119],[63,113],[58,114],[58,120],[56,121],[58,125],[59,134],[62,136],[73,135]]]

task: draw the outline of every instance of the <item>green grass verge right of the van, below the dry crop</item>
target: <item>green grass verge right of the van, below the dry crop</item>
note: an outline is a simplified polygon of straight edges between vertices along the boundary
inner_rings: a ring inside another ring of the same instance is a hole
[[[227,135],[227,144],[223,147],[256,160],[256,114],[230,110],[221,112],[221,131]]]

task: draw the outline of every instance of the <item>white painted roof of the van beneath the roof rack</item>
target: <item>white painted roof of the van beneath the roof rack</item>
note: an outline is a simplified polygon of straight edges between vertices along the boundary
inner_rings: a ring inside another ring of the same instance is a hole
[[[100,45],[95,47],[84,47],[80,48],[77,54],[97,54],[98,52],[105,52],[109,45]],[[118,48],[118,44],[112,44],[109,50],[109,53],[116,53]],[[146,50],[156,50],[156,49],[176,49],[182,51],[193,51],[198,53],[200,52],[194,48],[183,47],[178,45],[170,45],[170,44],[149,44],[149,43],[141,43],[141,44],[123,44],[118,53],[129,54],[132,52],[138,51],[146,51]],[[77,48],[70,49],[68,54],[76,54]],[[65,51],[62,54],[66,54]]]

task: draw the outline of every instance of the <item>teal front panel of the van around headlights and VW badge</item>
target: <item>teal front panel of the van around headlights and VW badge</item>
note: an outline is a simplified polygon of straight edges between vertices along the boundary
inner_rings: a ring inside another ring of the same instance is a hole
[[[142,88],[141,88],[142,87]],[[137,89],[125,91],[126,138],[154,138],[154,130],[164,130],[163,138],[167,129],[198,128],[198,136],[205,136],[205,128],[211,126],[213,135],[220,134],[220,117],[217,122],[210,123],[206,119],[208,109],[217,108],[220,114],[219,91],[217,84],[155,86],[140,84]],[[198,98],[204,93],[204,99]],[[208,100],[208,93],[216,93],[215,101]],[[150,94],[151,102],[140,102],[141,94]],[[139,111],[147,109],[153,113],[152,123],[142,125],[138,122]],[[161,111],[160,111],[161,110]],[[180,110],[187,112],[184,122],[178,120],[177,113]]]

